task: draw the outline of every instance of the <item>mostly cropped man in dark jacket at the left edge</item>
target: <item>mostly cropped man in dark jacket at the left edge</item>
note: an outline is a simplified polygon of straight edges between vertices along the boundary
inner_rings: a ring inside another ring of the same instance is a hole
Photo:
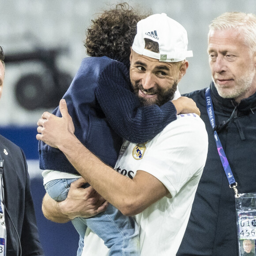
[[[4,53],[0,46],[0,97],[4,71]],[[2,160],[4,200],[1,197],[1,205],[4,208],[7,231],[6,255],[42,256],[44,254],[38,237],[25,155],[18,146],[0,135],[0,161]]]

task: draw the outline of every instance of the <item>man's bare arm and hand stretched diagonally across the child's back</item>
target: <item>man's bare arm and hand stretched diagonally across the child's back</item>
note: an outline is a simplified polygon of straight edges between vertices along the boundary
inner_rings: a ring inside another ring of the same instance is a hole
[[[139,170],[130,179],[105,165],[73,134],[72,118],[64,100],[60,101],[60,111],[62,118],[43,113],[38,120],[37,139],[59,148],[87,182],[124,215],[138,214],[169,193],[162,182],[147,172]]]

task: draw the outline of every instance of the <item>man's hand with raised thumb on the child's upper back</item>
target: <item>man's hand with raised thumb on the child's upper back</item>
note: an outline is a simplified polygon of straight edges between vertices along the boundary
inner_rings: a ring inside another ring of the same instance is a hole
[[[64,99],[60,100],[62,117],[44,112],[38,120],[38,134],[36,138],[51,147],[58,148],[66,136],[74,136],[75,128],[72,117],[68,114],[68,107]]]

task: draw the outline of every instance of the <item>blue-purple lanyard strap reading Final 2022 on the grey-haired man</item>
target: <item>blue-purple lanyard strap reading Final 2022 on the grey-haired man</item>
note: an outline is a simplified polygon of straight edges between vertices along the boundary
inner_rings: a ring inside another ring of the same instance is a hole
[[[207,108],[208,117],[210,119],[211,126],[214,130],[214,128],[215,128],[215,116],[214,116],[214,110],[213,110],[213,105],[212,105],[212,101],[211,101],[211,91],[210,91],[209,87],[206,89],[206,92],[205,92],[205,100],[206,100],[206,108]],[[237,188],[236,188],[237,182],[235,181],[233,173],[230,169],[230,164],[228,162],[228,159],[226,158],[226,154],[223,150],[222,144],[221,144],[221,142],[218,138],[218,134],[215,130],[214,130],[214,138],[215,138],[215,142],[216,142],[216,146],[217,146],[217,150],[218,150],[218,155],[219,155],[220,160],[222,162],[222,166],[223,166],[224,171],[226,173],[226,177],[229,181],[230,188],[234,189],[236,197],[237,197],[238,196],[238,191],[237,191]]]

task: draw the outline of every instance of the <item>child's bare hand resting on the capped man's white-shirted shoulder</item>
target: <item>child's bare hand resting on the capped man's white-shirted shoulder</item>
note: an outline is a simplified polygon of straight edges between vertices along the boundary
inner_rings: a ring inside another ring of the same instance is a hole
[[[194,102],[191,98],[181,96],[172,102],[177,109],[177,115],[195,113],[200,116],[200,110],[196,106],[196,102]]]

